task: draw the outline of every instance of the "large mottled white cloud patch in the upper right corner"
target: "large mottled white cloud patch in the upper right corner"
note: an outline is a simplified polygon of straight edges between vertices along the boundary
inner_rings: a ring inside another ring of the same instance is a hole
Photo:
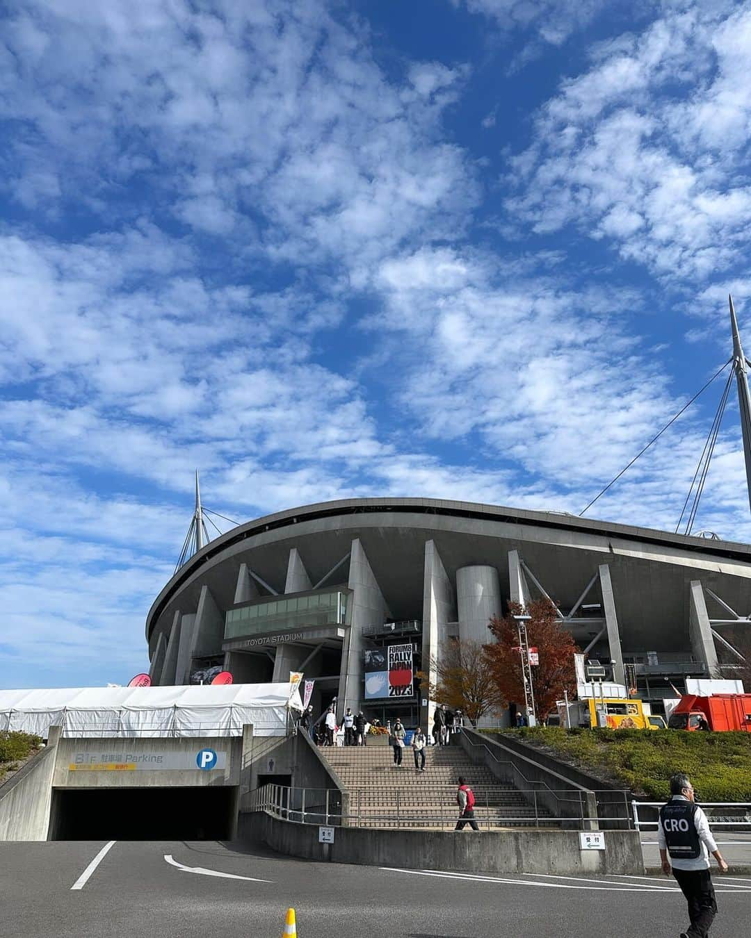
[[[751,219],[751,96],[736,90],[750,50],[747,5],[668,8],[641,35],[603,46],[512,161],[509,212],[539,234],[573,224],[607,237],[666,280],[729,272]]]

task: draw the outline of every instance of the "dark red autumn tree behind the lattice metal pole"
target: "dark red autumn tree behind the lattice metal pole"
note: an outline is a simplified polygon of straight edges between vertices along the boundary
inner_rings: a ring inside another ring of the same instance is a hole
[[[527,608],[509,604],[504,618],[493,618],[489,627],[496,641],[484,646],[499,697],[521,703],[524,701],[519,632],[513,615],[529,615],[527,637],[529,647],[536,647],[540,663],[531,667],[532,690],[538,719],[544,719],[555,708],[563,691],[574,694],[576,677],[574,654],[578,651],[571,632],[563,628],[555,606],[547,599],[530,602]]]

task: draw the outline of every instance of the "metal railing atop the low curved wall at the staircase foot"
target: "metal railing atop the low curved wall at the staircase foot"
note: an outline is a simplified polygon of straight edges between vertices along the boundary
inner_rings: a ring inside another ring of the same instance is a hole
[[[445,793],[442,791],[444,786],[435,786],[431,792],[446,794],[446,804],[442,807],[441,813],[431,813],[421,811],[416,808],[414,801],[416,797],[422,796],[419,789],[415,793],[400,792],[399,789],[391,791],[393,804],[388,809],[374,809],[372,806],[363,806],[362,797],[358,800],[355,793],[358,791],[350,790],[349,808],[343,811],[342,793],[334,789],[311,789],[296,788],[285,785],[268,784],[255,789],[248,798],[248,809],[251,811],[266,811],[274,817],[281,818],[284,821],[294,821],[299,824],[327,825],[332,827],[385,827],[385,828],[427,828],[452,830],[459,820],[458,808],[455,805],[455,786],[445,786]],[[475,792],[477,798],[478,792]],[[373,794],[373,790],[368,790]],[[563,817],[554,817],[546,814],[544,809],[538,809],[537,793],[519,792],[529,800],[533,806],[534,816],[529,813],[521,814],[514,812],[504,806],[492,805],[487,799],[483,805],[482,792],[481,797],[477,798],[475,808],[481,813],[476,814],[474,820],[481,829],[489,830],[493,827],[508,827],[510,825],[524,825],[541,827],[558,827],[565,823],[569,829],[573,822],[580,830],[589,829],[590,818],[582,814],[578,818],[571,814]],[[569,799],[571,792],[560,791],[561,801],[571,800],[576,804],[576,799]],[[409,797],[406,797],[409,795]],[[411,804],[409,803],[411,802]],[[581,805],[579,805],[581,807]],[[622,817],[601,818],[602,821],[622,821]]]

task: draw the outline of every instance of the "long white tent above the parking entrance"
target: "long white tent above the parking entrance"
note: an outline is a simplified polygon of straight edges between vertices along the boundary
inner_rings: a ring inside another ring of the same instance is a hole
[[[0,730],[64,736],[283,736],[302,710],[295,684],[0,690]]]

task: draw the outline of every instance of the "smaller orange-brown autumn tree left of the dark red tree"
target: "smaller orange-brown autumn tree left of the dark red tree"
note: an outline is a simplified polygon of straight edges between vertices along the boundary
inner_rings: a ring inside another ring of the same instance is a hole
[[[445,703],[451,710],[461,710],[473,726],[498,703],[497,683],[482,642],[469,639],[449,639],[440,648],[440,654],[431,658],[431,671],[419,671],[423,694],[431,700]]]

